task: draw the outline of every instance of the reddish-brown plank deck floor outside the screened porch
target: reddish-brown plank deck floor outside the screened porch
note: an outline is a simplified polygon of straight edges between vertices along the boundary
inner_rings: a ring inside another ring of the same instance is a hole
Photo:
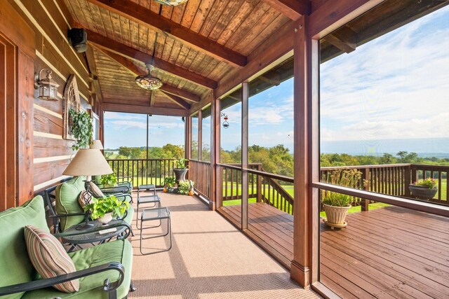
[[[220,213],[235,225],[240,207]],[[293,256],[293,217],[250,204],[247,235],[283,265]],[[449,219],[399,207],[349,214],[348,226],[321,224],[321,282],[342,298],[449,298]]]

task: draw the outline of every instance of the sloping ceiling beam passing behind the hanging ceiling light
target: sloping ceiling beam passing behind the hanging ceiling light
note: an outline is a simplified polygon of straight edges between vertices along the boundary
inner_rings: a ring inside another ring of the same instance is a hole
[[[108,50],[105,50],[102,48],[100,48],[99,50],[102,51],[102,53],[105,53],[105,55],[107,55],[109,58],[111,58],[118,64],[121,64],[123,67],[126,67],[126,69],[128,69],[128,71],[130,71],[134,76],[140,76],[142,74],[145,74],[145,71],[140,69],[140,67],[135,65],[131,60],[128,60],[121,55],[109,52]],[[177,95],[178,97],[182,97],[183,99],[188,99],[189,101],[192,101],[192,102],[199,102],[201,100],[201,97],[199,95],[196,95],[192,92],[188,92],[187,90],[182,90],[180,88],[176,88],[175,86],[168,85],[166,83],[163,83],[162,87],[159,88],[159,90],[163,90],[172,95]]]

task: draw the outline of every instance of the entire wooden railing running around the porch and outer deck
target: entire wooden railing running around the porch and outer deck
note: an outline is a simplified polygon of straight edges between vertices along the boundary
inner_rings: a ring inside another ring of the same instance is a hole
[[[128,176],[133,186],[153,183],[163,187],[163,179],[173,176],[175,159],[110,159],[108,160],[116,176]],[[223,201],[241,200],[241,167],[239,164],[218,164],[223,182]],[[392,164],[392,165],[360,165],[348,167],[321,167],[321,178],[339,169],[358,169],[361,180],[359,190],[371,191],[384,195],[398,197],[413,197],[408,185],[418,179],[433,178],[438,182],[438,193],[431,202],[449,205],[448,176],[449,166]],[[257,202],[266,202],[272,206],[291,213],[293,211],[293,196],[286,186],[293,190],[293,178],[264,172],[262,163],[248,165],[248,198]],[[210,162],[189,161],[189,179],[195,182],[196,190],[210,199]],[[323,183],[328,181],[321,179]],[[280,183],[281,182],[281,183]],[[291,192],[293,193],[293,192]],[[360,202],[356,199],[355,204]],[[365,203],[364,203],[365,204]],[[366,207],[367,204],[366,204]]]

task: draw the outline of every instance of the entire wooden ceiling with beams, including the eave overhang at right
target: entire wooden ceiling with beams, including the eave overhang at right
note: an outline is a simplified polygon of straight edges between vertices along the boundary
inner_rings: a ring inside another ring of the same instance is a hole
[[[73,26],[88,32],[87,60],[104,103],[126,105],[132,111],[159,107],[185,116],[210,102],[211,95],[222,97],[288,53],[295,20],[328,13],[333,0],[189,0],[175,7],[152,0],[64,1]],[[384,1],[321,39],[321,61],[349,53],[447,4]],[[153,95],[134,81],[147,74],[148,62],[163,82]],[[286,74],[279,76],[281,70]],[[293,60],[288,60],[252,86],[264,90],[291,76]],[[225,102],[235,102],[235,93]]]

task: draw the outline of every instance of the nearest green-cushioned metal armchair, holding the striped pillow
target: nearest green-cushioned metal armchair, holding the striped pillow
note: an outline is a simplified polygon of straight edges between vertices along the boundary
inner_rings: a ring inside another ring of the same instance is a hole
[[[1,212],[0,225],[0,296],[6,295],[2,298],[125,298],[128,295],[133,249],[126,239],[69,253],[76,272],[39,279],[28,257],[23,227],[34,225],[48,231],[43,198],[39,195],[20,207]],[[76,278],[80,282],[76,293],[62,293],[51,287]]]

